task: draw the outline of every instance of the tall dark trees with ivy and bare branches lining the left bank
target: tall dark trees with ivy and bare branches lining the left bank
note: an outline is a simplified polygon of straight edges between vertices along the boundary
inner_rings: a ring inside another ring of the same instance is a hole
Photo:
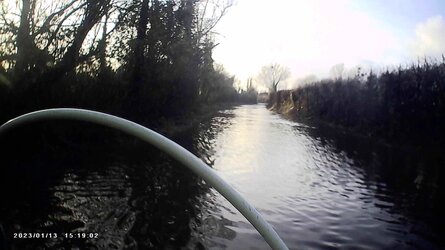
[[[150,123],[202,104],[256,101],[212,59],[212,29],[230,2],[23,0],[0,7],[0,122],[80,107]]]

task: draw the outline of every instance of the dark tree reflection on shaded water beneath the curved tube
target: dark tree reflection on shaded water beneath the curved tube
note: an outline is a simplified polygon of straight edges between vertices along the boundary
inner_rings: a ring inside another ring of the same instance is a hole
[[[209,190],[202,180],[159,151],[110,132],[92,132],[91,147],[76,150],[70,149],[85,138],[60,141],[50,133],[22,144],[25,157],[11,154],[18,150],[14,145],[41,129],[22,128],[2,141],[8,154],[0,175],[0,223],[8,247],[175,249],[191,242],[190,225]],[[110,135],[114,139],[105,139]],[[14,232],[56,232],[58,237],[17,240]],[[76,239],[77,234],[71,238],[65,232],[98,237]],[[190,245],[196,247],[199,242]]]

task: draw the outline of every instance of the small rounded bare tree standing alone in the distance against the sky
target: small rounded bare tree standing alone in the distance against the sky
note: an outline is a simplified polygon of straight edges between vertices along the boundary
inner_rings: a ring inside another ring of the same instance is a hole
[[[272,92],[277,92],[278,84],[290,76],[289,68],[274,63],[263,66],[258,75],[258,80]]]

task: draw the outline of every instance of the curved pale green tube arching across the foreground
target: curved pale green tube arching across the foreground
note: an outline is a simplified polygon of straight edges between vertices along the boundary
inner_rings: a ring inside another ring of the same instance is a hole
[[[208,184],[214,187],[219,193],[221,193],[236,209],[238,209],[238,211],[241,212],[244,217],[246,217],[250,223],[252,223],[252,225],[258,230],[258,232],[273,249],[288,249],[283,240],[281,240],[272,226],[264,220],[260,213],[258,213],[258,211],[251,206],[235,189],[233,189],[221,177],[219,177],[212,168],[207,166],[198,157],[172,140],[137,123],[117,116],[91,110],[71,108],[45,109],[21,115],[6,122],[0,127],[0,135],[8,129],[21,124],[55,119],[88,121],[115,128],[127,134],[136,136],[159,148],[177,161],[187,166],[189,169],[203,178]]]

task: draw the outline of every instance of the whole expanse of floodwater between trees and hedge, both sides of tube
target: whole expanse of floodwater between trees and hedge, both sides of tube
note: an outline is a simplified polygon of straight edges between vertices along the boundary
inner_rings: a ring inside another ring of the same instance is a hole
[[[77,125],[69,125],[76,131],[69,139],[67,126],[41,125],[33,132],[38,143],[26,128],[2,141],[4,246],[268,249],[224,197],[168,156],[111,131],[82,135]],[[14,136],[22,138],[16,146],[7,143]],[[85,138],[95,142],[86,147]],[[175,140],[238,190],[291,249],[445,247],[440,153],[292,122],[262,104],[222,110]],[[57,237],[14,238],[35,232]]]

